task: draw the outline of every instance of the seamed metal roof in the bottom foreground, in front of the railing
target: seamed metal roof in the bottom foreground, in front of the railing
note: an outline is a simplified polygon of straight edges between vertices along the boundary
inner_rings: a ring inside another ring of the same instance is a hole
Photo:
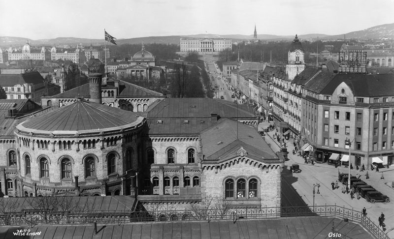
[[[30,238],[102,238],[102,239],[266,239],[266,238],[326,238],[331,233],[333,223],[335,232],[349,238],[371,238],[370,233],[360,224],[345,222],[343,218],[320,216],[285,217],[260,220],[212,220],[179,222],[143,222],[121,224],[98,224],[94,235],[94,225],[34,225],[0,227],[0,238],[18,238],[16,230],[41,232]],[[44,237],[45,236],[45,237]],[[25,238],[27,238],[25,236]]]

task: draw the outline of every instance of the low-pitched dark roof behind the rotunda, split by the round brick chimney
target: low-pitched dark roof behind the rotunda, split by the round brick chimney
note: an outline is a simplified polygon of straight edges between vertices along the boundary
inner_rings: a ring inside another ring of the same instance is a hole
[[[110,80],[109,80],[110,81]],[[107,82],[109,82],[107,81]],[[162,93],[154,90],[148,90],[146,88],[131,84],[126,81],[119,80],[119,94],[117,97],[147,97],[147,96],[163,96]],[[50,96],[47,98],[72,98],[72,97],[84,97],[90,98],[89,83],[76,87],[71,90],[67,90],[63,93]]]

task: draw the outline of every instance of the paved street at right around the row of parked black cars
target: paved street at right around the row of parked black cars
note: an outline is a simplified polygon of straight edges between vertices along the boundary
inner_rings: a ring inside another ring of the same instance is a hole
[[[262,131],[263,124],[259,125],[259,131]],[[265,123],[266,125],[266,123]],[[265,127],[265,126],[264,126]],[[275,152],[280,150],[276,140],[272,136],[276,130],[265,132],[265,140],[271,145],[271,149]],[[267,135],[268,134],[268,135]],[[350,199],[350,194],[343,194],[341,192],[342,183],[338,182],[339,188],[332,190],[331,182],[338,179],[338,172],[347,173],[348,168],[338,167],[335,168],[328,164],[315,163],[314,165],[305,164],[301,156],[293,155],[294,149],[292,140],[287,142],[287,149],[289,151],[289,160],[285,162],[285,168],[282,172],[282,206],[311,206],[313,205],[313,184],[319,183],[320,194],[315,193],[315,205],[339,205],[348,209],[361,211],[365,207],[367,216],[371,218],[375,224],[379,225],[378,217],[383,212],[385,213],[386,233],[389,237],[394,238],[394,213],[393,213],[393,200],[394,188],[391,187],[394,180],[394,169],[385,170],[384,179],[381,179],[382,172],[364,171],[360,172],[355,169],[351,170],[351,174],[360,177],[361,180],[373,186],[378,191],[390,197],[391,202],[376,202],[374,204],[367,202],[364,198]],[[300,173],[292,173],[290,166],[297,163],[301,170]],[[366,179],[365,174],[368,172],[369,179]],[[316,190],[317,192],[317,190]]]

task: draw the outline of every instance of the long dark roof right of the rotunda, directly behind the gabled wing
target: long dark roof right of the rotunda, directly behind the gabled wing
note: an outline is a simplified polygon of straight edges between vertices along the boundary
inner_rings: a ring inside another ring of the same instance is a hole
[[[211,98],[165,98],[150,105],[147,118],[253,118],[253,107]]]

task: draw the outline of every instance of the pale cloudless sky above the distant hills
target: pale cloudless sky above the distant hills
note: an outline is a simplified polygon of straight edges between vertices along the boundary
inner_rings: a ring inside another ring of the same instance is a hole
[[[344,34],[394,23],[394,0],[0,0],[0,36]]]

